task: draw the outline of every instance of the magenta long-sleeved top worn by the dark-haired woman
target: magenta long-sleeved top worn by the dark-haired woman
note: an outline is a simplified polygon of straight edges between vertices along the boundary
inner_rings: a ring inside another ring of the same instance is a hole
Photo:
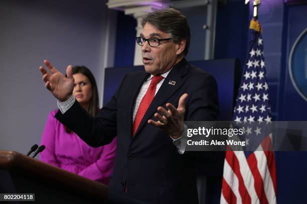
[[[41,141],[46,149],[40,153],[40,159],[108,185],[113,170],[116,137],[110,144],[90,147],[74,132],[66,132],[64,125],[54,117],[56,112],[53,110],[48,116]]]

